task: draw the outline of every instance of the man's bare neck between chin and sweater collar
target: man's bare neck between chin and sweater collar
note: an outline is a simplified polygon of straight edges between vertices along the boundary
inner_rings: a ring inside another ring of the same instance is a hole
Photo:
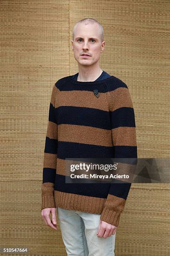
[[[79,67],[77,81],[93,82],[102,74],[100,67]]]

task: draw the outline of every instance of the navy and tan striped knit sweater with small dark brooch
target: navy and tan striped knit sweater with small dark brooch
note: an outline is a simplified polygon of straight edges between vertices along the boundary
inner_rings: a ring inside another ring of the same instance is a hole
[[[53,85],[41,207],[101,214],[101,220],[118,226],[131,183],[67,183],[67,158],[137,159],[135,113],[122,80],[80,82],[71,75]]]

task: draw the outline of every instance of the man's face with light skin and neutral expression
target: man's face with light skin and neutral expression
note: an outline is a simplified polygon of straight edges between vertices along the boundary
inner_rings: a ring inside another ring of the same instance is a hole
[[[82,66],[90,66],[100,59],[100,53],[105,48],[105,41],[101,42],[100,28],[97,23],[79,23],[75,27],[72,49],[76,61]],[[82,54],[90,56],[82,56]]]

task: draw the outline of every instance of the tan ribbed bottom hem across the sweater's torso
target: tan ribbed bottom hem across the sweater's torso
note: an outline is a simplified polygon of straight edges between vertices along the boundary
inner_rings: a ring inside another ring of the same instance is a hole
[[[56,206],[77,210],[81,212],[90,212],[101,214],[105,205],[105,198],[89,197],[84,195],[71,194],[54,190]]]

